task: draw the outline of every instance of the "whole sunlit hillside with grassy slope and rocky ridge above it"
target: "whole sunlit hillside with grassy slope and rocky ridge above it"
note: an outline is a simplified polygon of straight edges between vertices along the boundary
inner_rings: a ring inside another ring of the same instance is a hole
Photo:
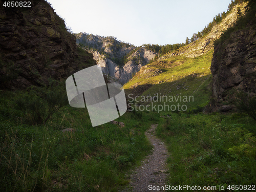
[[[151,100],[147,102],[141,98],[154,96],[179,98],[177,100],[158,99],[156,104],[164,102],[169,106],[180,104],[185,105],[186,110],[207,105],[211,96],[210,67],[214,42],[222,36],[224,31],[236,23],[240,15],[245,13],[246,5],[246,2],[233,5],[232,10],[222,18],[221,22],[211,27],[208,33],[186,46],[161,55],[156,61],[142,67],[124,85],[127,97],[132,101],[131,98],[140,96],[137,99],[137,101],[139,100],[137,104],[144,106]],[[185,96],[190,96],[191,101],[183,100]],[[173,109],[175,110],[172,111],[177,111],[176,108]]]

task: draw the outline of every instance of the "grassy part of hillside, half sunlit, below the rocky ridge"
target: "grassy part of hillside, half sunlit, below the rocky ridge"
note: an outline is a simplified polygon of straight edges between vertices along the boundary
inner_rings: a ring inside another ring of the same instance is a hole
[[[210,63],[212,58],[212,51],[206,54],[195,57],[186,58],[182,56],[169,57],[163,61],[155,61],[147,67],[138,72],[133,79],[124,85],[125,94],[129,95],[133,93],[134,89],[139,89],[145,85],[151,85],[151,87],[141,94],[142,97],[137,98],[141,100],[146,96],[158,96],[161,98],[163,95],[167,96],[164,101],[154,102],[157,105],[163,105],[164,102],[167,105],[180,105],[185,104],[187,110],[196,109],[197,106],[205,106],[209,102],[209,96],[211,95],[211,73],[210,73]],[[154,76],[154,71],[150,71],[144,74],[145,70],[162,70],[162,73]],[[134,85],[137,88],[134,88]],[[134,95],[136,96],[136,94]],[[178,96],[182,96],[182,101],[180,101]],[[185,97],[190,98],[190,102]],[[174,101],[169,100],[173,97]],[[175,100],[175,97],[177,101]],[[192,101],[194,98],[194,101]],[[184,100],[183,100],[184,99]],[[151,102],[138,102],[138,104],[150,104]],[[173,108],[174,109],[174,108]],[[185,109],[185,107],[184,107]],[[170,112],[171,110],[169,110]],[[168,111],[166,110],[166,113]]]

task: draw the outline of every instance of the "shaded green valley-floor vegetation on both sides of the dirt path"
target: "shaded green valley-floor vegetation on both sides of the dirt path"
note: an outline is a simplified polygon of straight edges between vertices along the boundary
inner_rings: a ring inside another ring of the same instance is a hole
[[[206,115],[200,108],[160,114],[133,111],[117,119],[124,127],[92,127],[86,109],[65,105],[46,123],[32,126],[15,107],[25,93],[0,93],[1,191],[118,191],[129,183],[127,170],[150,153],[144,131],[153,123],[159,123],[157,135],[171,154],[172,186],[227,187],[254,184],[256,179],[255,121],[243,114]],[[39,97],[33,91],[26,94]],[[162,115],[170,119],[160,120]],[[62,133],[65,129],[72,130]]]

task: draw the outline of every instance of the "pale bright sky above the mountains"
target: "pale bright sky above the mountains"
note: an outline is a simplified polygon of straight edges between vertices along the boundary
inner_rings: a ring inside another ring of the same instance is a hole
[[[231,0],[47,0],[74,33],[135,46],[177,44],[202,31]]]

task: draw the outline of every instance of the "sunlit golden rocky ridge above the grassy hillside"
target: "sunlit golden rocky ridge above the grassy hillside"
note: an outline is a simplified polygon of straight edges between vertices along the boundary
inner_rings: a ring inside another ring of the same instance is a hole
[[[221,34],[232,26],[238,18],[238,8],[242,14],[245,13],[247,3],[238,4],[233,7],[232,11],[218,25],[215,25],[210,33],[205,37],[191,42],[188,46],[180,48],[177,52],[173,52],[170,56],[184,55],[189,58],[197,57],[214,49],[214,40],[219,38]],[[164,59],[164,58],[160,58]]]

